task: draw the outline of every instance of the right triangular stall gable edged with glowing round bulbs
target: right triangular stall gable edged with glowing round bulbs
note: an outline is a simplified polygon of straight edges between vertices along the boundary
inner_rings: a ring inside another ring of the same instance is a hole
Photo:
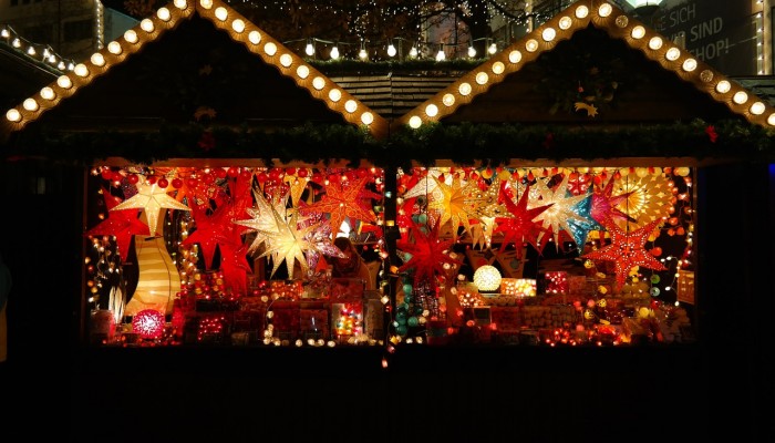
[[[775,125],[775,110],[766,100],[616,6],[580,0],[393,125],[610,125],[730,117]]]

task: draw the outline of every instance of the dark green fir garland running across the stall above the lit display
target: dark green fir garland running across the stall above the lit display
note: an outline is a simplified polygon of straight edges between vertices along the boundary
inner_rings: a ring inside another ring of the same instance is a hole
[[[254,158],[267,166],[301,162],[362,161],[380,167],[508,165],[515,161],[568,158],[689,157],[773,162],[775,131],[742,121],[713,125],[701,120],[669,125],[561,126],[520,124],[425,124],[375,140],[364,127],[316,125],[257,131],[244,127],[163,126],[158,131],[58,132],[39,128],[13,134],[0,152],[6,158],[43,158],[92,165],[107,157],[153,164],[170,158]]]

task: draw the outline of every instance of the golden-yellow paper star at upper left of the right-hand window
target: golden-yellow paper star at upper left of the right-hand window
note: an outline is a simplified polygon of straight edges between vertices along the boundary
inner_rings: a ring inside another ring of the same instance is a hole
[[[463,181],[455,176],[452,184],[434,177],[436,187],[441,192],[441,198],[428,200],[428,209],[438,214],[437,226],[450,224],[453,238],[457,238],[457,230],[461,226],[468,235],[471,233],[471,219],[478,220],[476,213],[477,205],[482,202],[482,195],[475,182],[469,181],[463,184]]]

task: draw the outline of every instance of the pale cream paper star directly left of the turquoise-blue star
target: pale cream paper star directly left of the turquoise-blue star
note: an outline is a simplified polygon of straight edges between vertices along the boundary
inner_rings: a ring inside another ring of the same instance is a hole
[[[568,175],[552,190],[544,179],[536,181],[536,187],[541,198],[538,202],[528,202],[528,207],[551,204],[545,212],[538,215],[536,222],[540,222],[544,228],[551,228],[555,245],[559,245],[559,233],[561,229],[572,231],[569,220],[583,222],[585,217],[579,214],[578,204],[590,198],[589,194],[571,195],[568,192]],[[544,238],[544,233],[538,234],[538,241]],[[559,246],[558,246],[559,248]]]

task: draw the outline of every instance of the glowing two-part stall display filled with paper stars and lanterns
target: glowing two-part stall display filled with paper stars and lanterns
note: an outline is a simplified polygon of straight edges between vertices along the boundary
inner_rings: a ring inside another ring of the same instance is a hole
[[[693,173],[94,166],[90,343],[692,342]]]

